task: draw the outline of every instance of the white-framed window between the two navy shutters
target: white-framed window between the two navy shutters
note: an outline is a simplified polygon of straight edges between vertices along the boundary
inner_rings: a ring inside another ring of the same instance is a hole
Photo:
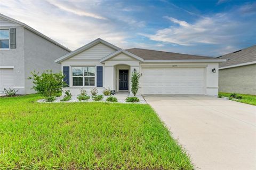
[[[72,67],[73,86],[94,86],[95,67]]]

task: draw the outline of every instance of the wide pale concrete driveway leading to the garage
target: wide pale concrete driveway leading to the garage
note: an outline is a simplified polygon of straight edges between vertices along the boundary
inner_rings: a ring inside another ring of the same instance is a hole
[[[256,107],[204,95],[145,96],[196,169],[256,169]]]

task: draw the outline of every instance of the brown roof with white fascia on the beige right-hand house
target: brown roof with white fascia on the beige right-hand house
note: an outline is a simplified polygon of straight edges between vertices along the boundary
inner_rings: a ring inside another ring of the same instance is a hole
[[[256,63],[256,45],[219,56],[218,59],[227,60],[227,62],[219,64],[220,68],[231,68]]]

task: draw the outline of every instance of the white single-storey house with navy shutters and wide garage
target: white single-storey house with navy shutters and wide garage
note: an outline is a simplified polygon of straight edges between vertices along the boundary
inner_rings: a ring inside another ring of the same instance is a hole
[[[220,60],[206,56],[132,48],[123,50],[98,38],[55,60],[66,75],[66,89],[79,94],[97,87],[131,91],[131,74],[142,73],[139,94],[218,95]]]

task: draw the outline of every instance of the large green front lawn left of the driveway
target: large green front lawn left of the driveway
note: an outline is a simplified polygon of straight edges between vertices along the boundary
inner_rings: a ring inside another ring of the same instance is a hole
[[[193,169],[147,104],[0,98],[0,169]]]

